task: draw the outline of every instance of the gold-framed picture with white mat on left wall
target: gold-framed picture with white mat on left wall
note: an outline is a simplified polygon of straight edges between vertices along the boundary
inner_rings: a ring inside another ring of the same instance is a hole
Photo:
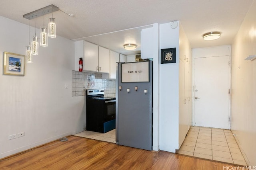
[[[4,52],[4,74],[24,76],[25,56]]]

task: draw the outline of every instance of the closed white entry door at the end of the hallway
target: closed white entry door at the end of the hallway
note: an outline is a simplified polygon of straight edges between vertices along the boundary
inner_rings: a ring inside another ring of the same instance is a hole
[[[194,59],[194,125],[230,129],[229,56]]]

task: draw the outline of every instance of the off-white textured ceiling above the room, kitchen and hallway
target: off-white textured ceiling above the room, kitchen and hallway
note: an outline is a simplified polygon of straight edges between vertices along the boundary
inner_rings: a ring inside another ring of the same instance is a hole
[[[84,38],[118,52],[122,52],[120,48],[125,39],[133,39],[140,46],[140,28],[133,31],[130,28],[179,20],[192,48],[199,48],[230,45],[253,1],[1,0],[0,16],[28,25],[28,20],[23,18],[24,14],[54,4],[63,11],[53,13],[57,35],[74,41]],[[75,17],[64,12],[75,14]],[[51,14],[45,16],[50,17]],[[35,25],[34,19],[30,25]],[[38,17],[37,25],[42,27],[43,17]],[[220,31],[220,39],[204,41],[202,35],[210,31]]]

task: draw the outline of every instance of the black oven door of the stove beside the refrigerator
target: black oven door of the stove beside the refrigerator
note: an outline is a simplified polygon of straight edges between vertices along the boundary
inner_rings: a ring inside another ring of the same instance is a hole
[[[104,101],[104,122],[116,119],[116,100]]]

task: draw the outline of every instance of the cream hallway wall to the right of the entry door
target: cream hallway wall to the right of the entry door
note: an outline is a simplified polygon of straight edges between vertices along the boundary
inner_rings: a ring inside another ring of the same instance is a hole
[[[232,43],[231,130],[249,165],[256,165],[256,2],[248,11]]]

